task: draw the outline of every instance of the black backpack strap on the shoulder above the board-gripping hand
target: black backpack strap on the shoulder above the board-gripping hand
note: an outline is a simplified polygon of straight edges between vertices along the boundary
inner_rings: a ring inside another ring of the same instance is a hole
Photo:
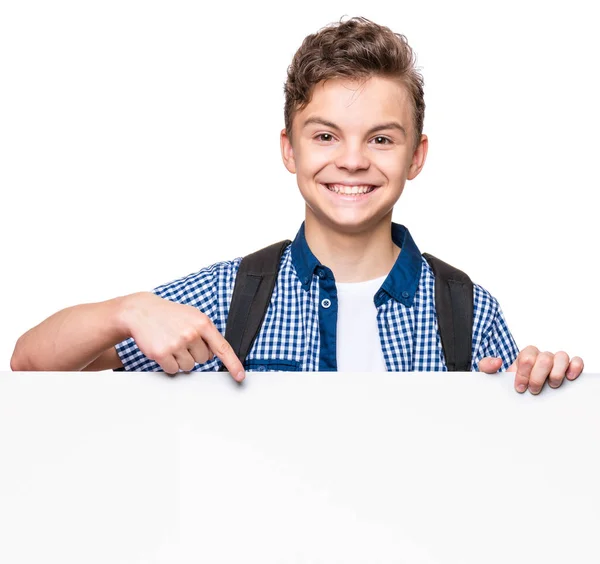
[[[473,282],[462,271],[423,253],[435,274],[435,309],[446,357],[452,372],[471,371]]]

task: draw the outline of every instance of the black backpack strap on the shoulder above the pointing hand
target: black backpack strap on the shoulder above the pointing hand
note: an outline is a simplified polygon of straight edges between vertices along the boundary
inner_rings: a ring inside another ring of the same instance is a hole
[[[229,306],[225,339],[242,364],[260,331],[271,302],[283,251],[291,243],[280,241],[242,259]],[[225,372],[225,365],[220,371]]]

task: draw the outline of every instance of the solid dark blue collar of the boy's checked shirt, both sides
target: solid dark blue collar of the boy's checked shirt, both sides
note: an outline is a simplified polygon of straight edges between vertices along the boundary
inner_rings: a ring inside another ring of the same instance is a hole
[[[392,241],[402,249],[392,270],[381,286],[381,290],[375,295],[375,305],[379,306],[389,299],[410,307],[412,306],[419,280],[421,278],[421,267],[423,260],[411,234],[404,225],[392,223]],[[317,266],[323,266],[312,253],[306,242],[304,222],[296,238],[292,242],[292,264],[296,269],[298,278],[305,290],[310,288],[312,277]]]

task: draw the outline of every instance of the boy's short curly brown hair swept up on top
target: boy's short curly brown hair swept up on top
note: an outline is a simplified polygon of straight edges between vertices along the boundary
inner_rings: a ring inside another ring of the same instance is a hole
[[[332,78],[367,79],[380,76],[398,80],[413,105],[415,147],[423,133],[425,100],[423,77],[406,37],[366,18],[330,24],[307,36],[288,67],[284,85],[285,129],[291,138],[297,111],[311,100],[314,87]]]

